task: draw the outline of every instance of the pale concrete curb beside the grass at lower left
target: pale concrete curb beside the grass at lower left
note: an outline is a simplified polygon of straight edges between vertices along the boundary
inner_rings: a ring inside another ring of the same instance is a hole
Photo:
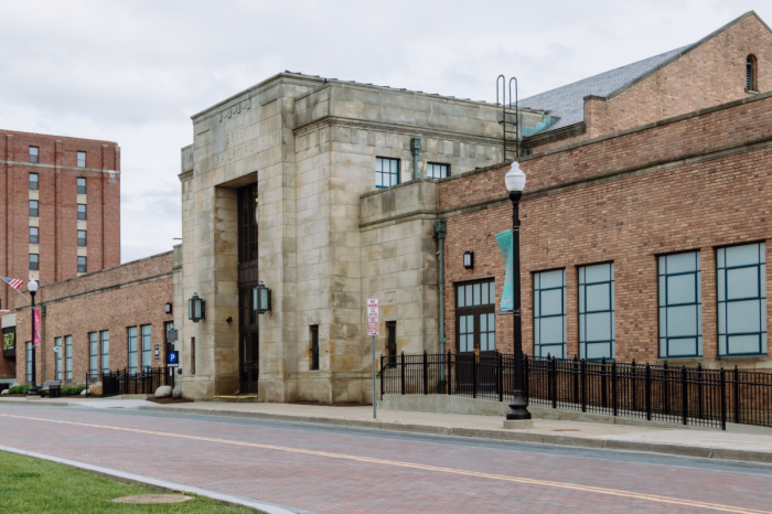
[[[196,488],[195,485],[186,485],[178,482],[170,482],[168,480],[152,479],[150,476],[142,476],[141,474],[127,473],[125,471],[118,471],[110,468],[103,468],[100,465],[88,464],[86,462],[81,462],[77,460],[63,459],[60,457],[46,456],[45,453],[37,453],[34,451],[21,450],[19,448],[0,446],[0,451],[7,451],[9,453],[18,453],[21,456],[34,457],[36,459],[43,459],[51,462],[58,462],[61,464],[72,465],[73,468],[78,468],[84,471],[90,471],[98,475],[108,476],[110,479],[117,479],[121,482],[138,483],[142,485],[150,485],[152,489],[161,490],[167,493],[191,493],[197,496],[206,496],[213,500],[217,500],[228,505],[240,505],[247,508],[253,508],[258,512],[265,512],[266,514],[296,514],[292,511],[282,508],[278,505],[266,504],[260,502],[250,501],[247,499],[242,499],[238,496],[232,496],[229,494],[223,494],[215,491],[210,491],[202,488]]]

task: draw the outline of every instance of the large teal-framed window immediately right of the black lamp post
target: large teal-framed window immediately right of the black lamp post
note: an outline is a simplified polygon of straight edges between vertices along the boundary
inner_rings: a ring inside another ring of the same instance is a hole
[[[534,274],[534,355],[566,357],[566,270]]]

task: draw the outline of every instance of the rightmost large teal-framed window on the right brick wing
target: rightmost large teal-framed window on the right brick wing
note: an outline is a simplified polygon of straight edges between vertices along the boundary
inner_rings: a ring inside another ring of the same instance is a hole
[[[716,250],[718,354],[766,354],[764,243]]]

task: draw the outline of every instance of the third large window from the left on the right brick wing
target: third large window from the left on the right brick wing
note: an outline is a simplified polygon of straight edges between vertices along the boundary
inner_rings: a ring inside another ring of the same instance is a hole
[[[660,356],[703,355],[703,290],[699,251],[657,259]]]

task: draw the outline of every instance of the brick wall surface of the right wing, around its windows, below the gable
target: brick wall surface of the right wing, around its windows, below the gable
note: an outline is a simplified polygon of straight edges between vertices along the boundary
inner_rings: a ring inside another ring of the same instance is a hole
[[[656,361],[656,256],[699,249],[703,361],[715,365],[715,247],[772,237],[772,127],[763,122],[769,108],[772,97],[766,96],[523,159],[528,176],[521,206],[525,350],[533,347],[532,272],[566,269],[567,354],[572,356],[578,353],[577,266],[613,261],[616,358]],[[504,260],[495,234],[512,226],[503,191],[507,169],[439,184],[441,215],[448,216],[444,306],[451,349],[453,285],[494,277],[501,299]],[[589,180],[598,175],[603,178]],[[474,270],[462,267],[465,250],[475,253]],[[769,283],[769,272],[765,279]],[[497,347],[511,352],[511,317],[497,317],[496,332]],[[764,367],[766,362],[740,360],[738,365]]]

